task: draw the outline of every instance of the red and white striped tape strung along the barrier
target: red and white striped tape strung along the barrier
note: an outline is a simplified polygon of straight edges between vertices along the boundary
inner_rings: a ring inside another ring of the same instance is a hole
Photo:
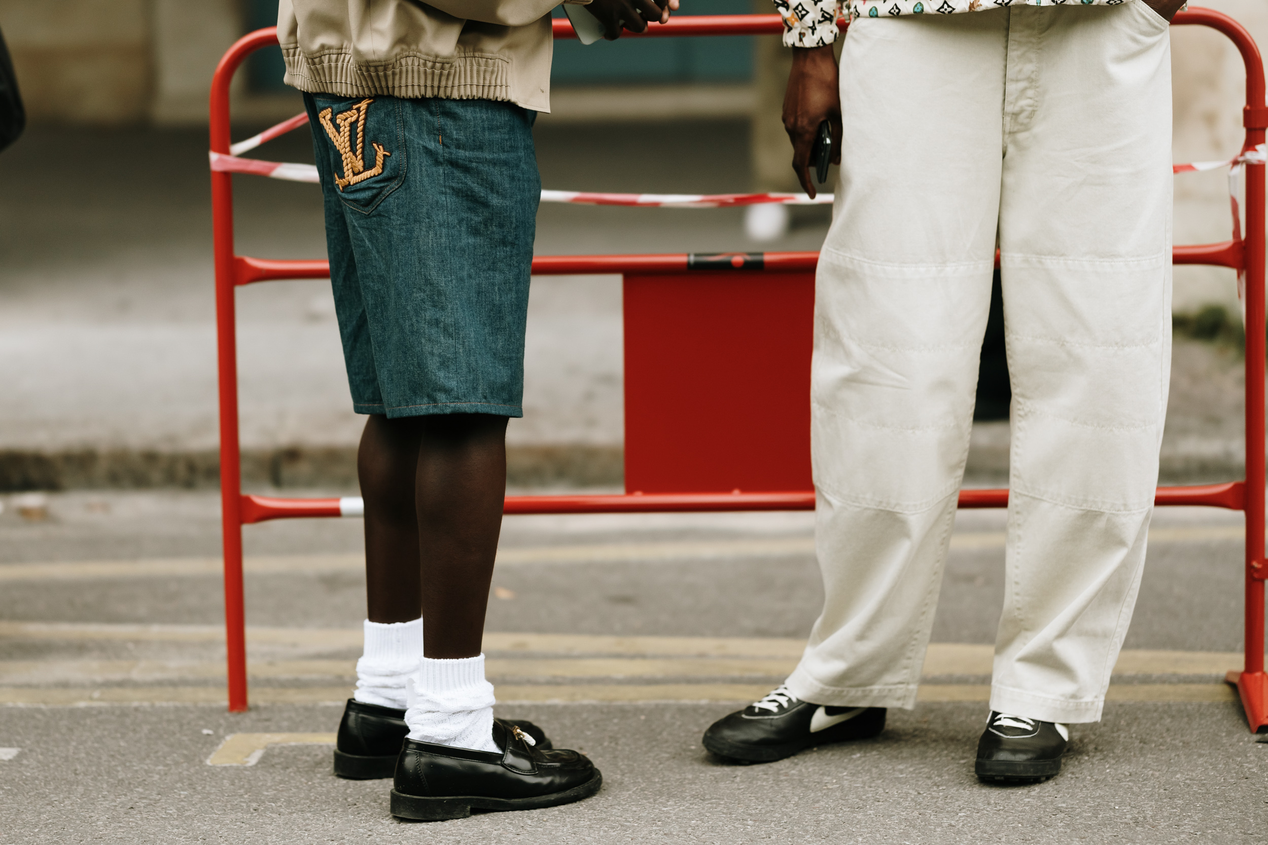
[[[251,174],[254,176],[268,176],[269,179],[281,179],[290,182],[312,182],[321,180],[317,177],[317,168],[312,165],[295,165],[281,161],[262,161],[260,158],[240,158],[238,153],[255,149],[260,144],[283,136],[292,129],[308,123],[307,114],[297,114],[289,120],[284,120],[275,127],[265,129],[257,136],[251,136],[246,141],[240,141],[230,147],[231,155],[222,152],[208,153],[212,161],[212,170],[221,174]],[[1187,165],[1172,165],[1172,172],[1192,174],[1207,170],[1220,170],[1230,167],[1240,170],[1241,165],[1268,163],[1265,155],[1268,144],[1259,144],[1254,149],[1246,149],[1230,161],[1194,161]],[[1236,174],[1234,174],[1236,176]],[[805,194],[605,194],[593,191],[541,191],[543,203],[569,203],[573,205],[624,205],[626,208],[735,208],[741,205],[831,205],[832,194],[819,194],[809,198]],[[1234,204],[1236,198],[1234,196]]]

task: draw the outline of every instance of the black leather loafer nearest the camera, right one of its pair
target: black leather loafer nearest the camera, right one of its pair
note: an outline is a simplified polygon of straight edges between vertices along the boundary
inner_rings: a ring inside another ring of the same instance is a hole
[[[581,801],[604,778],[583,754],[539,750],[514,725],[493,721],[500,753],[406,740],[396,768],[392,815],[440,821],[472,810],[538,810]]]

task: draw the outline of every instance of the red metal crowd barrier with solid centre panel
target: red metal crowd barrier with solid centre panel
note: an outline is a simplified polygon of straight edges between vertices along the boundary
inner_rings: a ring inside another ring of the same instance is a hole
[[[1243,152],[1264,143],[1264,67],[1250,34],[1210,9],[1182,11],[1175,25],[1227,35],[1246,68]],[[555,38],[573,38],[554,20]],[[680,16],[642,34],[754,35],[782,32],[779,15]],[[254,51],[276,43],[273,28],[241,38],[212,81],[210,148],[230,152],[230,81]],[[1246,476],[1203,486],[1159,488],[1159,505],[1201,504],[1245,513],[1245,666],[1229,673],[1253,731],[1268,727],[1264,674],[1264,165],[1246,165],[1246,237],[1178,246],[1175,264],[1245,274]],[[228,172],[212,172],[219,362],[224,623],[231,711],[247,707],[242,526],[292,517],[358,516],[359,499],[243,495],[241,485],[235,298],[237,288],[275,279],[325,279],[325,261],[236,255]],[[727,255],[539,256],[535,275],[621,274],[625,323],[625,493],[507,497],[506,513],[809,511],[809,362],[815,252]],[[761,395],[737,408],[734,397]],[[719,413],[719,408],[727,408]],[[961,508],[1002,508],[1008,490],[962,490]]]

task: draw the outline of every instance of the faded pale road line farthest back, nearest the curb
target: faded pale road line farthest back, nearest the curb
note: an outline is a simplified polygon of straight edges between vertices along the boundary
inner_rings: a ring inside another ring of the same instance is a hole
[[[1240,541],[1240,526],[1197,526],[1191,528],[1154,528],[1149,540],[1172,542]],[[951,536],[952,551],[1002,549],[1003,532],[966,532]],[[500,566],[559,564],[676,562],[708,560],[746,560],[753,557],[806,556],[814,554],[809,537],[770,540],[708,540],[691,542],[610,543],[593,546],[540,546],[501,549]],[[0,581],[87,580],[119,578],[212,578],[221,574],[219,557],[172,557],[155,560],[93,560],[53,561],[41,564],[3,564]],[[243,570],[249,575],[283,575],[295,573],[361,571],[361,555],[275,555],[247,557]]]

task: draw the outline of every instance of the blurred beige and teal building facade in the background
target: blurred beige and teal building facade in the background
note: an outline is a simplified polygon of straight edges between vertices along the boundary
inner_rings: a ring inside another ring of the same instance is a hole
[[[1268,46],[1263,0],[1203,0],[1241,20]],[[683,0],[685,14],[772,10],[768,0]],[[0,0],[30,120],[63,125],[198,125],[217,60],[235,38],[268,25],[276,0]],[[1241,137],[1244,75],[1222,37],[1173,33],[1175,158],[1230,156]],[[734,190],[790,190],[787,141],[779,120],[789,51],[779,38],[649,39],[557,47],[550,120],[751,120],[751,172]],[[280,56],[260,56],[235,82],[243,123],[299,110],[280,85]],[[847,139],[848,143],[848,139]],[[1178,242],[1227,238],[1222,174],[1177,180]],[[1177,272],[1177,309],[1235,303],[1229,274]]]

